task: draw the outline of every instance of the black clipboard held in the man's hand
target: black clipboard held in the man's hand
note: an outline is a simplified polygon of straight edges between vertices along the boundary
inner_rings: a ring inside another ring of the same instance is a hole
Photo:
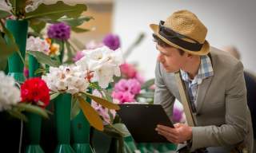
[[[174,128],[160,104],[119,104],[118,116],[136,143],[170,143],[159,135],[158,124]]]

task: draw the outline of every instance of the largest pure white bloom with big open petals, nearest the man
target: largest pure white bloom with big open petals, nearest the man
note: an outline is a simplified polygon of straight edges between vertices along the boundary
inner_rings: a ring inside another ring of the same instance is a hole
[[[121,76],[119,66],[122,65],[122,52],[120,49],[115,51],[106,46],[93,50],[84,50],[82,57],[75,64],[80,65],[87,72],[93,72],[92,82],[98,82],[102,88],[107,88],[113,77]]]

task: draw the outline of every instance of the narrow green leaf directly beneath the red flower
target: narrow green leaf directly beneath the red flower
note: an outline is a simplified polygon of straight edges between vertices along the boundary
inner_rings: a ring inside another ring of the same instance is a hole
[[[19,108],[22,111],[33,112],[35,114],[38,114],[39,116],[49,118],[48,114],[46,113],[46,111],[43,108],[40,108],[33,104],[19,103],[19,104],[16,104],[14,107]]]

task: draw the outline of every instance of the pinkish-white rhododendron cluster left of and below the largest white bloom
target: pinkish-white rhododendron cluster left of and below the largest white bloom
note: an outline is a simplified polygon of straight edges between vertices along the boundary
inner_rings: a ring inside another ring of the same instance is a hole
[[[84,73],[80,66],[59,66],[58,68],[50,67],[50,73],[42,76],[47,86],[54,92],[77,93],[86,92],[89,81],[85,79]]]

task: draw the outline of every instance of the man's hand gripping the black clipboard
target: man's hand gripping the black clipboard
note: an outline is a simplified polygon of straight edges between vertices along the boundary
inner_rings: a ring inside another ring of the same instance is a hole
[[[192,138],[192,128],[185,124],[174,124],[174,128],[158,125],[155,130],[171,143],[183,143]]]

